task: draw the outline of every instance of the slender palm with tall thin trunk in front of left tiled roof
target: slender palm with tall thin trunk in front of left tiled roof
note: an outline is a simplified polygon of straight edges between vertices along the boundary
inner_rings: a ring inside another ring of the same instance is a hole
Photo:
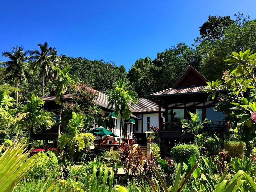
[[[57,139],[57,148],[59,144],[60,137],[60,124],[61,124],[61,114],[62,114],[62,103],[63,103],[63,95],[68,91],[72,92],[72,90],[79,83],[79,79],[75,75],[69,75],[71,67],[67,65],[64,69],[60,69],[58,66],[53,66],[52,69],[57,73],[57,78],[53,81],[47,83],[47,88],[52,88],[55,91],[56,98],[55,103],[60,105],[60,117],[59,117],[59,129],[58,129],[58,139]]]

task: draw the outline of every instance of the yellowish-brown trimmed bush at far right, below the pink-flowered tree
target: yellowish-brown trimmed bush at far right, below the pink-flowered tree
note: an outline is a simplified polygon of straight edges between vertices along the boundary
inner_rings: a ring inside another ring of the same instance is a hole
[[[244,152],[246,150],[246,144],[243,141],[231,141],[228,140],[225,142],[226,150],[229,151],[229,155],[234,158],[243,158]]]

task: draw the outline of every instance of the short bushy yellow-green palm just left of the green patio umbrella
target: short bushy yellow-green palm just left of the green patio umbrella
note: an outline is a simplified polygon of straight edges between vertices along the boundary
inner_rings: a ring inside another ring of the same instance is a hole
[[[68,133],[61,133],[59,137],[59,147],[63,149],[66,145],[71,147],[71,159],[73,161],[74,151],[78,148],[81,151],[85,147],[85,139],[89,139],[92,142],[95,139],[91,133],[81,133],[82,128],[85,126],[85,115],[72,112],[72,117],[66,127]]]

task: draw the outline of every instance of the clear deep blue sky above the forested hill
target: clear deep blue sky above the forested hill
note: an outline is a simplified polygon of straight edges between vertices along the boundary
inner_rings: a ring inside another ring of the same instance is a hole
[[[0,53],[45,41],[58,54],[103,59],[128,71],[179,42],[191,45],[208,15],[256,17],[256,1],[1,1]],[[0,60],[6,58],[0,56]]]

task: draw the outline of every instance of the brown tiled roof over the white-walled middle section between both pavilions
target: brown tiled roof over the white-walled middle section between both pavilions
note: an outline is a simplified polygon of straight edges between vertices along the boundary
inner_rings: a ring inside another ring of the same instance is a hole
[[[154,112],[158,111],[158,105],[147,98],[142,98],[138,100],[136,105],[131,106],[131,109],[133,113]],[[164,111],[164,109],[161,108],[161,111]]]

